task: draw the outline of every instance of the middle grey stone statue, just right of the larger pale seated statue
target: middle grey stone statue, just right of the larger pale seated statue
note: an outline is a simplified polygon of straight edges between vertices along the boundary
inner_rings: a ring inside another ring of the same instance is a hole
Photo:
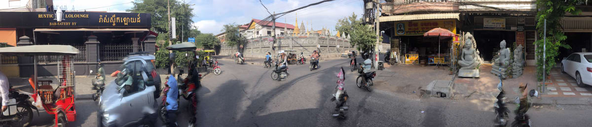
[[[499,58],[494,59],[494,65],[491,66],[491,73],[507,78],[506,69],[510,65],[510,48],[506,48],[506,40],[500,42]],[[500,71],[501,69],[501,71]]]

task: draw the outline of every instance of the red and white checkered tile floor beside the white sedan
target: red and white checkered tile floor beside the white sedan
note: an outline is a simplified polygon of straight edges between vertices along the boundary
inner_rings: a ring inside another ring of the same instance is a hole
[[[559,69],[551,71],[552,85],[547,85],[546,95],[548,97],[574,97],[574,98],[592,98],[592,86],[585,88],[579,87],[574,78],[566,73],[561,73]]]

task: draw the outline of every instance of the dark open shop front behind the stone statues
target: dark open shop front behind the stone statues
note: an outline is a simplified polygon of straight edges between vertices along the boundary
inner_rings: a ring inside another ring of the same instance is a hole
[[[465,14],[462,31],[471,32],[477,43],[481,58],[491,61],[500,50],[500,42],[506,48],[517,45],[525,47],[526,64],[535,65],[536,24],[532,15]]]

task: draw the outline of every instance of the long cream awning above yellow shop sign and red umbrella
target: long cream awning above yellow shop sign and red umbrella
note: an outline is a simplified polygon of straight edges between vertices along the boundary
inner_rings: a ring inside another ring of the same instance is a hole
[[[456,19],[459,20],[460,13],[443,13],[443,14],[416,14],[416,15],[392,15],[381,16],[378,18],[379,22],[390,21],[413,21],[424,19]]]

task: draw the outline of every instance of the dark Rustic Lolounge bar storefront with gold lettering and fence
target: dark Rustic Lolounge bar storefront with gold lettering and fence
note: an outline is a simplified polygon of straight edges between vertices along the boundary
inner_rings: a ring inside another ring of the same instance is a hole
[[[130,52],[155,52],[155,38],[150,32],[150,14],[105,12],[0,12],[0,43],[22,45],[72,45],[79,51],[74,56],[76,75],[90,75],[99,61],[107,72],[114,71]],[[2,72],[27,77],[32,73],[32,59],[23,56],[2,56]],[[40,56],[38,63],[54,75],[56,65],[51,56]],[[14,68],[17,66],[18,68]],[[47,67],[47,68],[46,68]],[[14,71],[18,73],[14,73]]]

